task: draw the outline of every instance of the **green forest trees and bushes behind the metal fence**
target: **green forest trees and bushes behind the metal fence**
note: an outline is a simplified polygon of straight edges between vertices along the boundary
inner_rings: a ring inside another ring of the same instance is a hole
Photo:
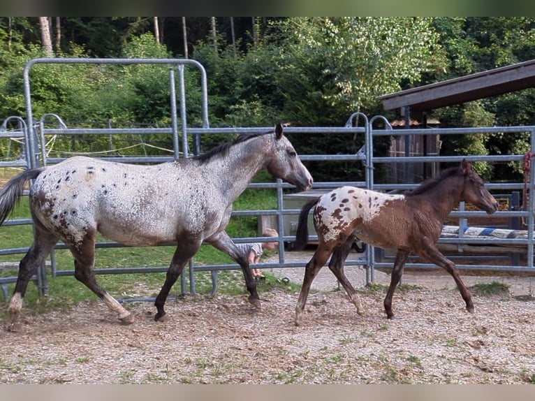
[[[22,71],[36,57],[195,59],[207,71],[210,126],[342,126],[357,111],[400,118],[385,112],[378,96],[535,59],[535,18],[0,17],[0,120],[24,117]],[[169,126],[168,86],[168,71],[152,66],[54,64],[31,71],[34,116],[53,112],[68,126]],[[535,89],[525,89],[428,117],[441,128],[534,125],[534,97]],[[196,71],[186,74],[186,99],[189,126],[200,126]],[[374,143],[378,154],[388,148],[384,138]],[[292,140],[302,154],[362,146],[355,136]],[[217,143],[221,138],[203,137],[202,151]],[[527,133],[448,136],[440,150],[528,151]],[[324,172],[312,173],[321,179]],[[332,173],[362,179],[356,170]],[[522,166],[485,163],[480,173],[519,180]]]

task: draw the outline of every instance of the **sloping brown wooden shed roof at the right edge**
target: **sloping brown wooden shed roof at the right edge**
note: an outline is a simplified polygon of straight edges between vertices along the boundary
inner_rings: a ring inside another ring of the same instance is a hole
[[[425,112],[535,87],[535,59],[379,96],[385,110],[409,106]]]

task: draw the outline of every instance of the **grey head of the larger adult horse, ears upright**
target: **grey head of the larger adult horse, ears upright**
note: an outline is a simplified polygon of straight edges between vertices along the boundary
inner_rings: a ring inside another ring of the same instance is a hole
[[[274,154],[266,166],[270,174],[295,185],[300,191],[312,187],[312,175],[301,160],[288,138],[282,134],[282,125],[277,124],[274,136]]]

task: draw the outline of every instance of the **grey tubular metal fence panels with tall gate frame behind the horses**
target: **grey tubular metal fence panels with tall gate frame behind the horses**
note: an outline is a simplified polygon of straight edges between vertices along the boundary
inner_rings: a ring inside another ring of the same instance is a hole
[[[141,129],[80,129],[80,128],[68,128],[58,115],[47,113],[43,115],[38,121],[34,122],[33,110],[31,104],[31,85],[29,82],[29,71],[35,64],[164,64],[173,66],[169,70],[169,85],[170,85],[170,120],[171,124],[168,128],[141,128]],[[198,68],[200,71],[200,86],[201,86],[201,110],[202,110],[202,126],[193,128],[188,126],[186,116],[186,98],[184,93],[184,67],[190,66]],[[178,71],[179,78],[179,91],[175,89],[175,70]],[[170,135],[173,138],[173,152],[169,155],[161,156],[121,156],[113,157],[106,156],[105,159],[122,161],[127,163],[161,163],[163,161],[170,161],[179,157],[187,157],[190,155],[188,148],[188,138],[195,138],[193,143],[200,143],[205,134],[226,134],[229,133],[257,133],[265,132],[271,127],[249,127],[249,128],[210,128],[207,117],[207,78],[206,73],[202,65],[198,62],[190,59],[34,59],[31,60],[26,68],[24,68],[24,96],[26,101],[27,119],[24,122],[20,117],[10,117],[7,121],[16,119],[20,122],[20,130],[17,132],[8,133],[5,127],[0,133],[0,139],[3,137],[17,137],[24,140],[24,160],[1,162],[0,166],[18,166],[20,168],[31,168],[35,166],[43,166],[52,163],[58,163],[63,160],[65,156],[51,156],[50,152],[50,138],[62,137],[62,138],[75,138],[76,136],[109,136],[110,138],[117,138],[122,135]],[[177,108],[177,99],[179,108]],[[50,122],[55,122],[57,127],[50,128]],[[4,122],[4,126],[6,125]],[[374,128],[380,123],[381,128]],[[460,162],[463,158],[469,161],[489,161],[489,162],[509,162],[509,161],[523,161],[525,157],[529,157],[535,154],[535,126],[517,126],[517,127],[478,127],[471,129],[433,129],[434,134],[438,134],[441,137],[447,138],[448,135],[458,134],[471,134],[471,133],[518,133],[527,132],[530,138],[529,155],[525,154],[512,154],[512,155],[499,155],[499,156],[374,156],[374,138],[378,136],[419,136],[429,133],[425,129],[397,129],[393,130],[392,126],[388,123],[385,117],[375,116],[368,119],[366,115],[357,112],[349,117],[346,124],[339,127],[287,127],[285,133],[291,134],[294,137],[300,135],[317,135],[318,133],[336,136],[346,135],[351,133],[355,136],[362,136],[365,145],[356,154],[300,154],[300,158],[306,164],[307,161],[339,161],[356,163],[358,166],[365,170],[365,180],[362,182],[315,182],[314,190],[316,191],[328,191],[334,187],[342,185],[353,185],[356,187],[365,187],[367,189],[373,189],[376,191],[394,191],[400,189],[410,189],[416,187],[416,184],[396,184],[390,182],[375,182],[374,169],[381,163],[402,163],[402,166],[408,166],[408,163],[423,162],[423,163],[439,163],[439,162]],[[12,163],[12,164],[10,164]],[[457,267],[467,270],[511,270],[511,271],[534,271],[534,175],[529,175],[527,182],[490,182],[487,185],[488,189],[494,194],[498,191],[519,191],[526,194],[525,207],[523,210],[506,210],[499,211],[493,216],[508,217],[508,218],[520,218],[525,221],[525,237],[523,238],[467,238],[465,237],[464,230],[458,230],[458,235],[455,238],[441,238],[440,243],[455,244],[460,249],[464,245],[497,245],[497,246],[515,246],[526,248],[526,263],[512,264],[507,266],[485,265],[485,263],[477,265],[460,265]],[[288,202],[285,202],[285,191],[291,188],[291,185],[277,180],[276,182],[257,182],[249,184],[251,189],[274,189],[277,192],[277,209],[274,210],[235,210],[233,216],[255,216],[261,219],[262,217],[271,217],[276,221],[279,231],[279,261],[277,263],[261,263],[260,268],[289,268],[289,267],[302,267],[301,262],[286,261],[286,243],[292,242],[295,239],[295,235],[289,232],[288,228],[285,228],[285,218],[288,216],[295,216],[299,213],[299,208],[292,206],[288,207]],[[470,217],[478,217],[484,215],[485,212],[479,211],[467,211],[464,210],[464,205],[460,205],[460,210],[451,213],[451,217],[459,219],[460,226],[463,226],[463,221]],[[29,219],[22,220],[8,220],[4,225],[9,224],[31,224]],[[314,238],[314,237],[312,237]],[[233,238],[235,242],[255,242],[256,238]],[[57,245],[57,249],[64,247],[63,244]],[[98,242],[96,247],[122,247],[122,245],[116,242]],[[27,248],[19,249],[0,249],[0,255],[5,254],[22,254],[26,253]],[[346,265],[363,265],[367,271],[367,283],[374,282],[374,268],[390,268],[392,261],[388,260],[388,255],[380,254],[373,247],[367,247],[364,254],[361,254],[359,258],[352,261],[348,261]],[[407,267],[415,268],[436,268],[434,265],[427,263],[407,263]],[[121,274],[121,273],[147,273],[147,272],[165,272],[168,266],[152,266],[152,267],[138,267],[138,268],[107,268],[96,269],[96,274]],[[195,259],[191,259],[189,263],[189,291],[186,290],[186,277],[181,275],[181,291],[182,293],[189,292],[191,294],[196,293],[195,272],[208,271],[211,272],[212,278],[212,293],[217,291],[217,272],[221,270],[238,270],[239,266],[235,263],[230,264],[217,264],[217,265],[199,265],[196,264]],[[52,254],[50,260],[50,271],[52,277],[59,275],[73,275],[73,270],[57,270],[54,263],[54,255]],[[38,275],[34,277],[38,284],[40,293],[47,292],[47,267],[43,265],[38,272]],[[9,283],[15,282],[16,277],[0,277],[0,285],[3,291],[4,299],[7,299],[7,286]],[[147,298],[152,299],[152,298]],[[139,299],[130,299],[139,300]],[[142,298],[145,300],[145,298]]]

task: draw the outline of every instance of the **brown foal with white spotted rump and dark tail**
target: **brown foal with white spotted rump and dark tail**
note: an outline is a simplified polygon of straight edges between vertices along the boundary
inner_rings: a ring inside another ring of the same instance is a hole
[[[358,314],[362,314],[360,298],[344,275],[344,262],[356,239],[375,247],[397,249],[390,286],[384,300],[388,319],[394,316],[392,297],[411,252],[446,269],[455,280],[467,310],[474,312],[471,295],[455,264],[435,246],[446,217],[460,201],[476,205],[488,214],[498,209],[498,203],[466,160],[404,195],[340,187],[309,201],[300,212],[295,248],[302,249],[307,242],[307,218],[312,207],[318,248],[305,268],[295,307],[295,324],[300,325],[310,285],[331,254],[330,270],[346,290]]]

